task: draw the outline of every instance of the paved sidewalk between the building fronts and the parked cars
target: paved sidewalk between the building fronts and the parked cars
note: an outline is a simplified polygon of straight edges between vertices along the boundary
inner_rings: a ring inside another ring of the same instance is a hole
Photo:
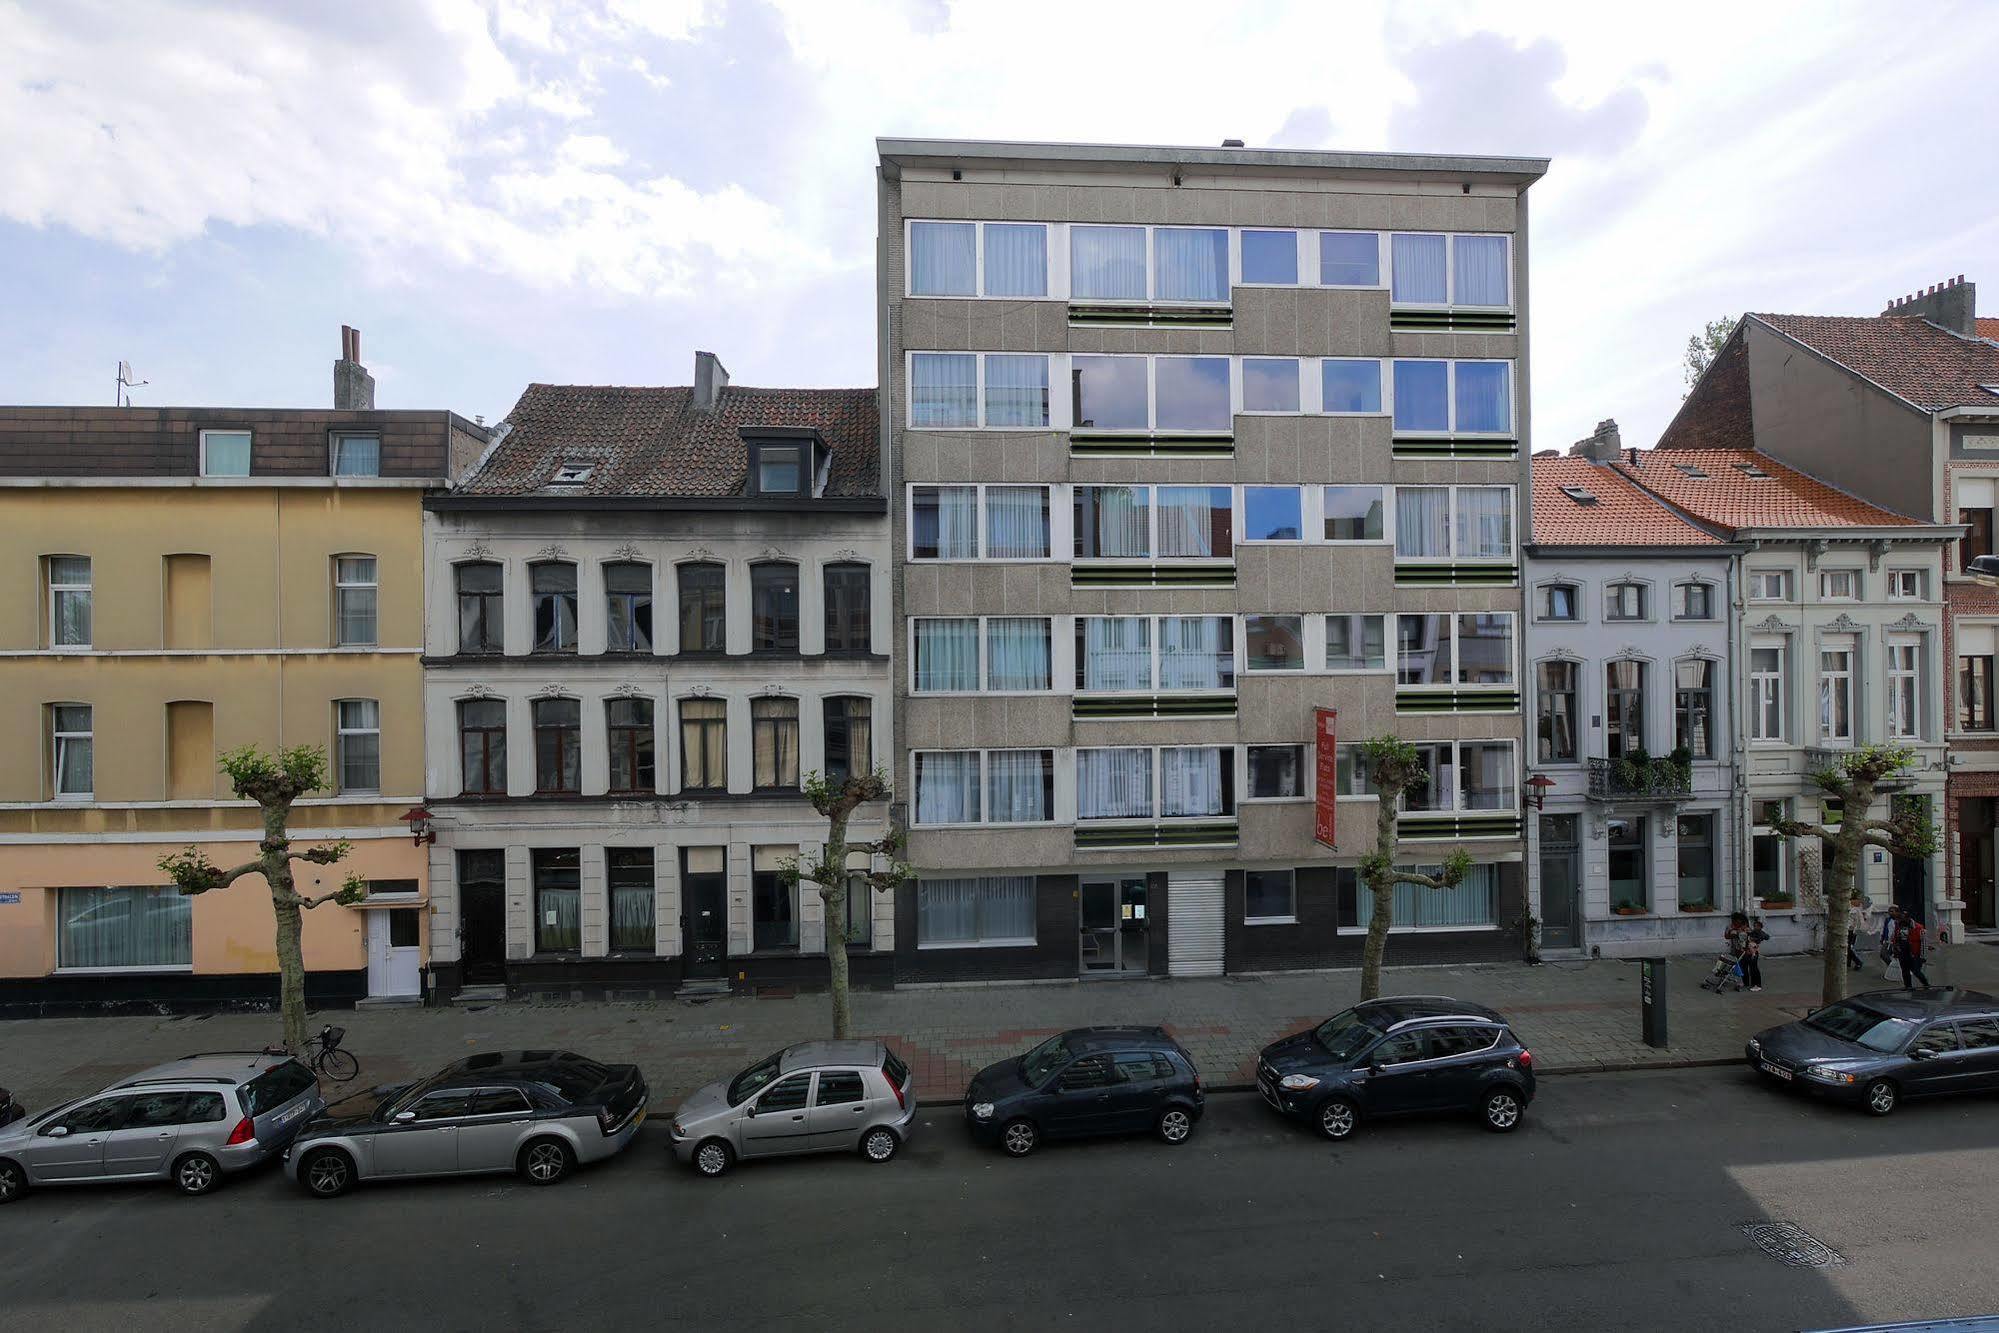
[[[1709,959],[1669,963],[1671,1045],[1639,1035],[1633,961],[1481,963],[1395,967],[1389,993],[1445,993],[1505,1013],[1539,1073],[1645,1069],[1741,1059],[1743,1041],[1801,1017],[1819,1001],[1819,959],[1765,957],[1761,993],[1699,989]],[[1999,947],[1961,943],[1929,963],[1935,985],[1999,991]],[[1899,985],[1873,955],[1849,973],[1849,993]],[[1193,1055],[1209,1087],[1247,1085],[1257,1051],[1351,1005],[1359,971],[1203,979],[1071,981],[858,991],[854,1031],[884,1037],[918,1075],[926,1101],[956,1101],[984,1065],[1041,1037],[1087,1023],[1163,1023]],[[348,1029],[362,1063],[354,1087],[416,1079],[474,1051],[566,1047],[604,1061],[636,1061],[654,1105],[726,1077],[792,1041],[830,1031],[824,993],[650,1003],[444,1005],[314,1015]],[[192,1051],[256,1049],[278,1039],[276,1013],[78,1017],[0,1021],[0,1085],[30,1111],[104,1087],[140,1067]],[[330,1093],[334,1089],[328,1089]]]

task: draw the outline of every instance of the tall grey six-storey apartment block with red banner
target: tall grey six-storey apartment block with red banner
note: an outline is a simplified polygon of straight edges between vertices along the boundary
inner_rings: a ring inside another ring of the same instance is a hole
[[[896,975],[1517,955],[1527,188],[1543,160],[882,140]],[[1315,841],[1315,709],[1337,709]]]

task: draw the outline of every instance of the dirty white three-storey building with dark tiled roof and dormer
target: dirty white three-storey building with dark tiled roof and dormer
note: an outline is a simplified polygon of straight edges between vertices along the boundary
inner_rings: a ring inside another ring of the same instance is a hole
[[[440,995],[824,983],[780,867],[826,841],[804,775],[890,755],[886,508],[874,390],[706,352],[694,386],[528,386],[426,504]],[[894,903],[846,929],[888,983]]]

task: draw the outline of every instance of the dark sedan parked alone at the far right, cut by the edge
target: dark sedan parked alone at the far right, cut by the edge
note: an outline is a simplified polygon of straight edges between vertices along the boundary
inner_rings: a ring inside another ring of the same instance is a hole
[[[1869,991],[1759,1031],[1743,1055],[1775,1083],[1887,1115],[1903,1097],[1999,1089],[1999,999]]]

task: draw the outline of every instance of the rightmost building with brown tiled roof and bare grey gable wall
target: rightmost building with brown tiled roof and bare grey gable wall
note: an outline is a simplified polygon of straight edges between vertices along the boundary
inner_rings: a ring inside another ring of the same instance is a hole
[[[1753,444],[1897,514],[1961,526],[1941,584],[1925,576],[1917,592],[1931,604],[1925,618],[1943,600],[1943,638],[1923,669],[1943,699],[1933,735],[1949,745],[1939,817],[1949,873],[1925,899],[1945,921],[1961,911],[1967,927],[1995,929],[1999,590],[1965,570],[1995,552],[1999,320],[1975,310],[1973,284],[1957,278],[1873,318],[1747,314],[1661,444]]]

